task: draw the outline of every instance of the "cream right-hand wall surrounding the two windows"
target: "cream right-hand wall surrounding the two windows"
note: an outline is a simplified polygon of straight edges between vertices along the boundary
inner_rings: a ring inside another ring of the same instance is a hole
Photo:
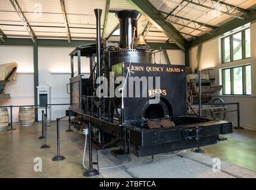
[[[220,39],[213,39],[210,42],[202,44],[201,57],[199,59],[199,68],[214,67],[210,71],[211,75],[215,75],[216,84],[221,84],[221,69],[251,64],[251,81],[252,81],[252,96],[218,96],[226,103],[240,102],[241,107],[241,125],[246,128],[256,129],[256,42],[254,36],[256,34],[256,23],[251,24],[251,58],[234,61],[226,64],[221,64],[221,46]],[[192,70],[195,69],[196,55],[198,46],[192,47],[190,50],[190,61]],[[229,106],[229,110],[235,110],[235,106]],[[237,124],[236,112],[227,113],[227,120]]]

